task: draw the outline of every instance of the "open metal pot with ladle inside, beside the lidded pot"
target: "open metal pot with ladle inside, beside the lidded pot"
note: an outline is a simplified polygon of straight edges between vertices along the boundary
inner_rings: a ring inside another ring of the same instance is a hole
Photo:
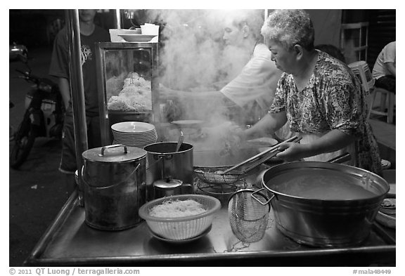
[[[192,193],[193,188],[193,145],[182,143],[176,152],[176,142],[154,143],[146,150],[146,198],[154,199],[153,183],[156,180],[178,179],[183,181],[182,193]]]

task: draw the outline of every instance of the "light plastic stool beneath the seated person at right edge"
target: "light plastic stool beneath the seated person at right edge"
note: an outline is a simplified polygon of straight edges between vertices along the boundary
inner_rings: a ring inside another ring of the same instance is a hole
[[[392,122],[394,121],[395,93],[380,87],[375,87],[373,93],[373,100],[371,101],[371,106],[368,111],[368,117],[370,117],[371,114],[386,116],[387,123],[392,124]],[[381,97],[379,106],[380,110],[374,109],[374,103],[377,93],[380,93]],[[387,110],[387,112],[385,112],[385,110]]]

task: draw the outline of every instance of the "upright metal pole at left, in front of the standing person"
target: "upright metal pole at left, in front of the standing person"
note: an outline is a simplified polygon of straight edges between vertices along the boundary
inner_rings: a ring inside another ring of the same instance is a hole
[[[73,123],[75,129],[76,162],[79,173],[79,202],[82,204],[82,152],[88,149],[86,108],[82,71],[82,51],[80,46],[79,11],[66,10],[68,30],[70,95],[72,97]]]

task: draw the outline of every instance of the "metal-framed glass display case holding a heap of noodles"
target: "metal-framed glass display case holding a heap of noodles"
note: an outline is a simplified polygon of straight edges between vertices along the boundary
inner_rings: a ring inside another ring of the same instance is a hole
[[[96,65],[103,145],[117,122],[158,124],[158,43],[97,43]]]

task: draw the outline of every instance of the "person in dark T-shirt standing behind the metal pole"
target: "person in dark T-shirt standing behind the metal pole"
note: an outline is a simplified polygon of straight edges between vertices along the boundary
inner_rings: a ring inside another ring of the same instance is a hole
[[[79,10],[84,99],[89,148],[101,146],[94,44],[101,41],[110,41],[109,33],[105,29],[94,24],[96,11],[97,10]],[[49,74],[58,77],[58,85],[66,109],[62,135],[62,156],[60,159],[59,171],[68,175],[74,175],[77,170],[77,162],[70,93],[69,64],[68,33],[66,27],[63,27],[63,29],[58,32],[53,44]]]

